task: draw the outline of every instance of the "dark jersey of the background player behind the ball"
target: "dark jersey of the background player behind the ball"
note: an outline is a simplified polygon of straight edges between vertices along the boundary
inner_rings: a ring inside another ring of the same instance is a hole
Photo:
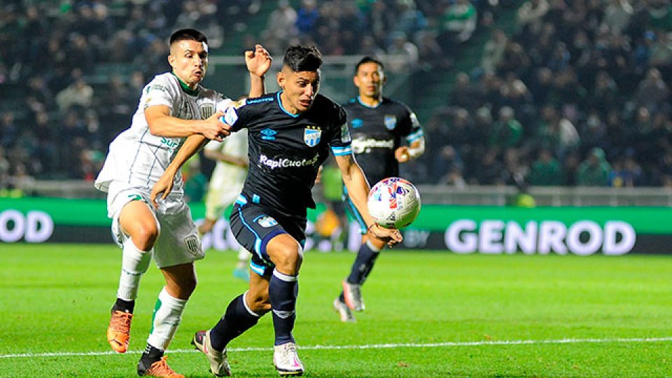
[[[401,146],[402,138],[407,143],[423,137],[423,131],[408,106],[383,97],[372,108],[351,99],[344,104],[348,116],[352,152],[362,167],[366,179],[373,186],[386,177],[399,175],[399,163],[394,151]]]

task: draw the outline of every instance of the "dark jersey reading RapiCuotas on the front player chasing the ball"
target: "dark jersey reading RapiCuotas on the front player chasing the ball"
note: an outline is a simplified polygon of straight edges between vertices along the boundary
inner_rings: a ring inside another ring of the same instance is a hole
[[[351,140],[343,108],[317,94],[308,111],[283,109],[281,92],[237,102],[224,121],[248,130],[250,166],[242,194],[288,216],[315,208],[311,195],[318,168],[334,155],[349,155]]]

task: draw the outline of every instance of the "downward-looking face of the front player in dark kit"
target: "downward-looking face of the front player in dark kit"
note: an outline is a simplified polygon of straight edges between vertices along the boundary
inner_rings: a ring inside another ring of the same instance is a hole
[[[278,85],[283,108],[292,114],[310,109],[315,95],[320,90],[320,71],[294,72],[287,67],[278,73]]]

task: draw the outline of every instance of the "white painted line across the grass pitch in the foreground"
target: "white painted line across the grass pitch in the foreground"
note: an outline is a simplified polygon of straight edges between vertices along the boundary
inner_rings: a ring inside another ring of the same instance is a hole
[[[534,344],[606,344],[606,343],[633,343],[633,342],[668,342],[672,337],[635,337],[614,339],[556,339],[556,340],[503,340],[478,342],[433,342],[428,344],[400,343],[400,344],[368,344],[368,345],[313,345],[299,346],[299,349],[386,349],[386,348],[437,348],[442,346],[481,346],[481,345],[534,345]],[[228,351],[272,351],[272,348],[231,348]],[[196,349],[173,349],[166,353],[196,353]],[[142,351],[128,351],[127,353],[142,353]],[[29,358],[29,357],[69,357],[69,356],[106,356],[117,354],[113,351],[90,352],[53,352],[53,353],[18,353],[0,354],[0,358]]]

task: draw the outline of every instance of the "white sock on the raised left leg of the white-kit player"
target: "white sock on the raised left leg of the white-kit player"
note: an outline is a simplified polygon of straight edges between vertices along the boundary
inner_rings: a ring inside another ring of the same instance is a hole
[[[141,251],[129,237],[124,241],[123,258],[121,262],[121,276],[117,297],[123,300],[135,300],[138,297],[140,279],[147,272],[152,261],[154,248]]]

